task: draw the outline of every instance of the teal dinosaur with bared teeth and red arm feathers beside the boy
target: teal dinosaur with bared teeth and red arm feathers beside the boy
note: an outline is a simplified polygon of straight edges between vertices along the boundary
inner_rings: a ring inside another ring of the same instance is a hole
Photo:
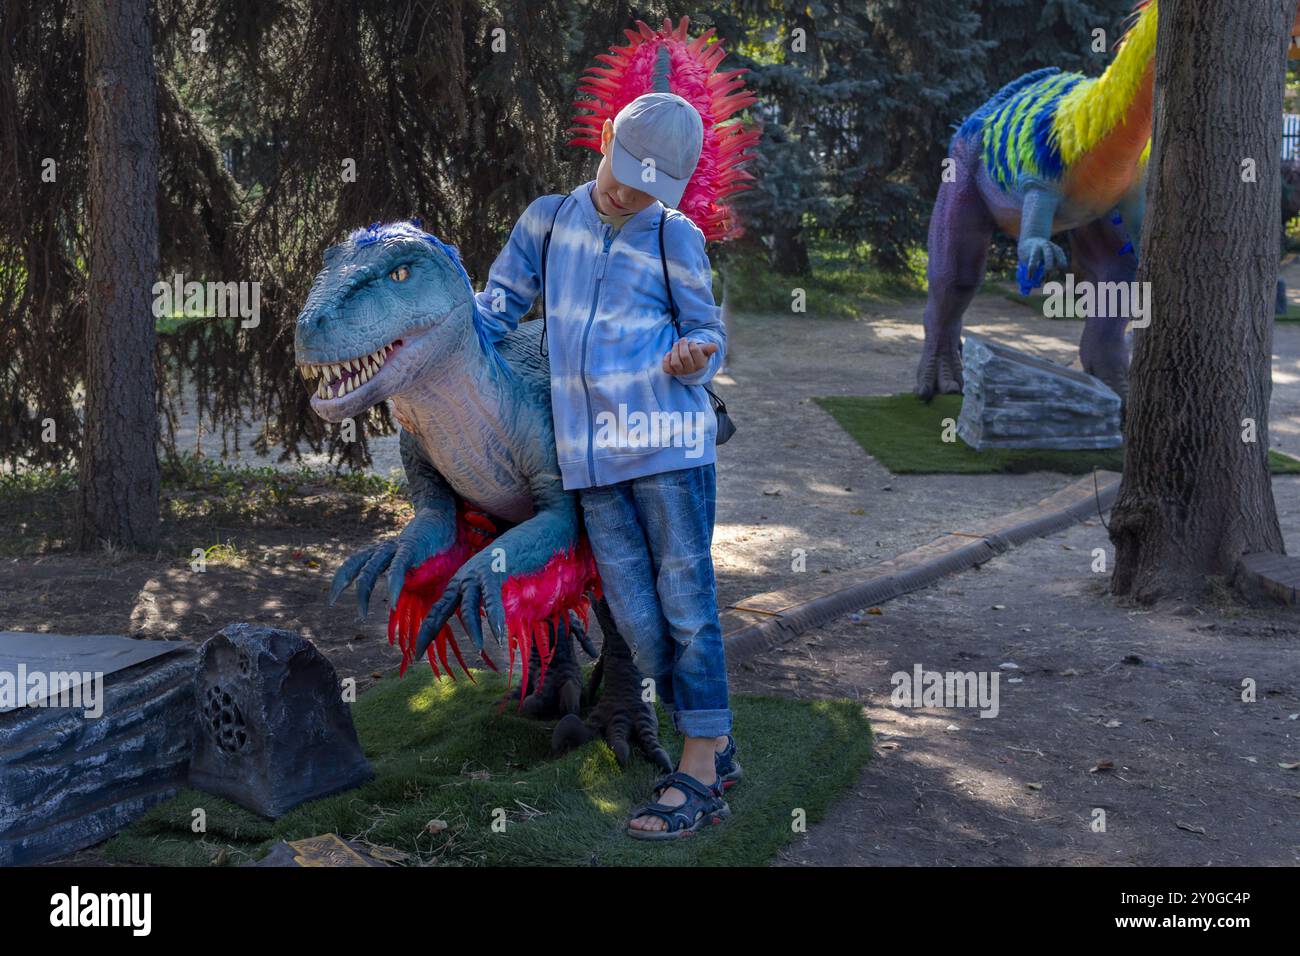
[[[389,640],[402,648],[402,670],[426,654],[439,675],[439,663],[451,672],[448,649],[465,669],[447,623],[452,613],[493,666],[481,610],[510,650],[511,672],[520,657],[521,709],[576,714],[581,675],[571,633],[585,640],[589,602],[603,600],[577,498],[560,484],[541,323],[521,324],[494,349],[455,250],[399,222],[358,230],[325,252],[295,332],[317,415],[342,421],[391,401],[416,509],[396,538],[339,567],[330,604],[355,581],[364,618],[386,574]],[[611,669],[636,670],[599,610],[608,700],[586,736],[603,734],[620,758],[634,744],[671,770],[640,678],[610,678]],[[629,685],[636,693],[612,698],[611,688]],[[571,722],[554,740],[563,747],[580,736]]]

